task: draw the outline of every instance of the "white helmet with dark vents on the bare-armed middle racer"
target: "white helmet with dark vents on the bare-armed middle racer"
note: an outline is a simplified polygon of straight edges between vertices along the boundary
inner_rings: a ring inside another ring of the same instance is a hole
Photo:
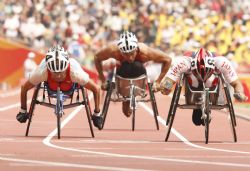
[[[124,31],[120,35],[117,46],[119,47],[122,53],[129,53],[134,51],[138,47],[138,40],[134,33]]]

